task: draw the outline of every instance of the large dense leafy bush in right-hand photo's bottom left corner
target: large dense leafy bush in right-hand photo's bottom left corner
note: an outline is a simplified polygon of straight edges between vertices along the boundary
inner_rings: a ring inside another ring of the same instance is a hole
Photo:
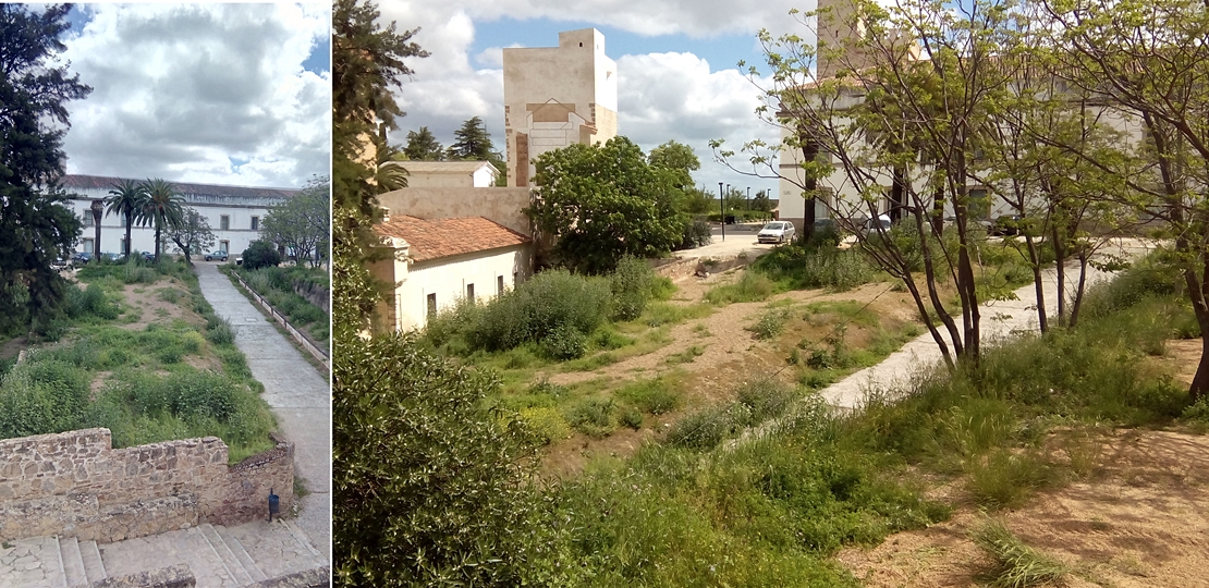
[[[534,523],[532,432],[484,408],[498,384],[410,335],[336,347],[335,583],[520,586],[550,526]]]

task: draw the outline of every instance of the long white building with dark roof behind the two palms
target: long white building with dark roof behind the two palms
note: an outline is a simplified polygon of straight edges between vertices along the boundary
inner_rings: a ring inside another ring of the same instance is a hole
[[[70,201],[71,212],[81,219],[82,232],[75,250],[93,250],[96,225],[92,202],[110,197],[110,190],[126,178],[69,174],[63,177],[63,189],[75,196]],[[135,180],[138,181],[138,180]],[[260,223],[268,208],[284,202],[299,192],[294,189],[247,188],[173,181],[177,192],[184,197],[184,207],[201,213],[214,232],[213,249],[238,255],[260,238]],[[103,214],[100,219],[100,250],[122,254],[127,252],[126,219],[120,214]],[[132,252],[155,252],[155,226],[140,226],[138,221],[131,231]],[[175,253],[177,247],[166,236],[161,237],[164,253]],[[196,252],[195,252],[196,254]]]

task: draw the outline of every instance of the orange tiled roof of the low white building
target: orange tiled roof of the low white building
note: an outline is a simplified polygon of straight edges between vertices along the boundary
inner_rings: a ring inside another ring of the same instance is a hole
[[[531,240],[482,217],[424,220],[416,217],[392,215],[380,223],[374,232],[382,237],[401,238],[411,246],[411,259],[430,259],[486,252],[501,247],[528,243]]]

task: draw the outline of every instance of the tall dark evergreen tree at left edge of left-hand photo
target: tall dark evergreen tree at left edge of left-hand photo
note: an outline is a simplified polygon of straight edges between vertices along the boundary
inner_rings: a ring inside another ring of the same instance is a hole
[[[29,12],[0,5],[0,333],[48,317],[65,282],[51,264],[71,250],[80,220],[65,206],[65,103],[92,88],[54,67],[70,5]]]

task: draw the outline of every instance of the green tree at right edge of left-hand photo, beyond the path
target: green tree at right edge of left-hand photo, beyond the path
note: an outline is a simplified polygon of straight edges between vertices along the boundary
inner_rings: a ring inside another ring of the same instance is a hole
[[[312,267],[328,256],[331,234],[331,184],[314,178],[293,197],[273,206],[260,224],[265,241],[294,249],[297,263]]]

